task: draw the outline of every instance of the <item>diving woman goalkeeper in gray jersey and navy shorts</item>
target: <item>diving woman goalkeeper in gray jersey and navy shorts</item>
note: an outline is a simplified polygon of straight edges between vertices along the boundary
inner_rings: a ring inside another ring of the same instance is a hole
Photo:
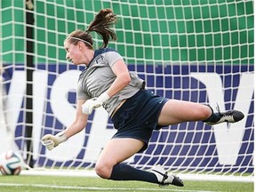
[[[166,99],[145,89],[144,81],[127,69],[122,56],[107,47],[110,40],[116,40],[116,33],[111,28],[115,22],[116,14],[103,9],[87,30],[73,31],[66,38],[67,59],[76,66],[85,64],[86,67],[77,83],[76,118],[63,132],[44,135],[43,144],[52,150],[81,132],[92,110],[103,106],[117,132],[99,156],[95,165],[97,174],[109,180],[141,180],[182,187],[182,180],[164,171],[161,165],[147,172],[122,162],[148,148],[152,132],[163,126],[189,121],[236,123],[244,118],[244,114],[236,110],[213,113],[210,106]],[[103,40],[98,50],[92,49],[91,32],[98,33]]]

